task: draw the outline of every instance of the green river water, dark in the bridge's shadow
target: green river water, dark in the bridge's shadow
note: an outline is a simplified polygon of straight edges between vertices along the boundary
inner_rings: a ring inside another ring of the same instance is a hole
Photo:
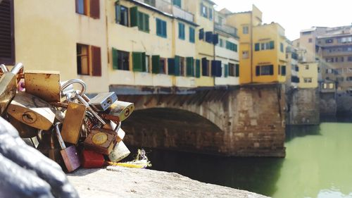
[[[352,122],[287,128],[287,156],[226,158],[147,149],[151,169],[274,198],[352,198]]]

